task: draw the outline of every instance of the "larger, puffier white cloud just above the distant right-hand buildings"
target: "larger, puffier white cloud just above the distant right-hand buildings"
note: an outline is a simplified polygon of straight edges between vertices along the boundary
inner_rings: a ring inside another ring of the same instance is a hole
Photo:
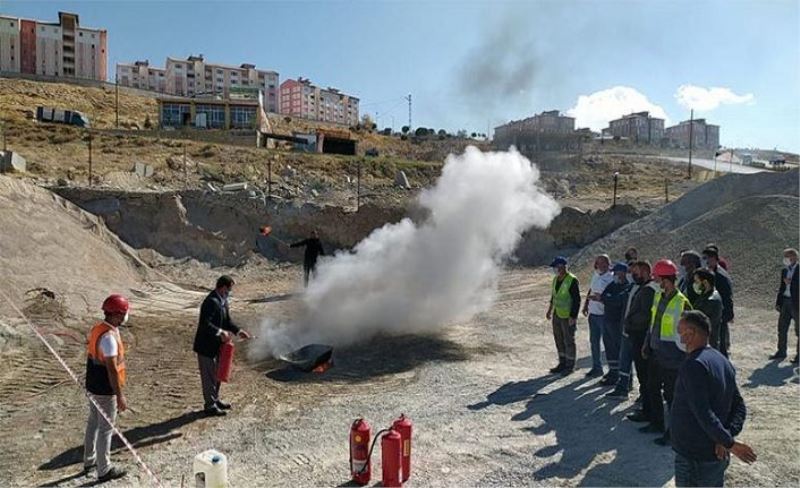
[[[600,131],[608,127],[608,121],[618,119],[631,112],[650,112],[653,117],[665,119],[667,113],[660,106],[650,102],[644,94],[629,86],[615,86],[590,95],[581,95],[575,106],[567,114],[575,117],[576,127],[589,127]]]

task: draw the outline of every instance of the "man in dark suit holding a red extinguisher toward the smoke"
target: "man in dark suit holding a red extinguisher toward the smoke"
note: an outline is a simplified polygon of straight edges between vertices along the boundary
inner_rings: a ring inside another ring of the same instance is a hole
[[[235,282],[227,275],[217,279],[217,286],[200,306],[200,320],[194,336],[194,352],[200,367],[203,385],[204,411],[209,416],[227,415],[230,403],[219,399],[220,382],[217,379],[220,347],[233,339],[233,334],[249,339],[250,334],[231,320],[229,301]]]

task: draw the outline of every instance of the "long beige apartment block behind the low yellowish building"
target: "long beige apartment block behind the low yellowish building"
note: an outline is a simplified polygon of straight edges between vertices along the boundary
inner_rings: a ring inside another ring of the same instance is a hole
[[[264,93],[264,108],[278,112],[278,73],[256,69],[253,64],[227,66],[206,63],[202,55],[186,59],[167,58],[165,68],[153,68],[146,61],[117,64],[122,86],[154,90],[168,95],[223,98],[257,98]],[[162,83],[163,80],[163,83]]]

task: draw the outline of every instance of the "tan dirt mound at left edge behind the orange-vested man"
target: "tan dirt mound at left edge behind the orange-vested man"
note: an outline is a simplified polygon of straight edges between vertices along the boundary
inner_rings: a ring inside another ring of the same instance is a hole
[[[96,314],[147,271],[102,220],[22,180],[0,176],[0,229],[3,292],[34,316]],[[5,300],[0,315],[14,315]]]

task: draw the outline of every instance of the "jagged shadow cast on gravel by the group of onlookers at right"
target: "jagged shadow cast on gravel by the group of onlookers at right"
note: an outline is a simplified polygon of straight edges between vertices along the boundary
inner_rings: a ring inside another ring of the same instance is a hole
[[[556,455],[560,458],[538,468],[534,466],[530,480],[533,484],[662,486],[667,483],[674,474],[672,450],[655,445],[656,436],[639,433],[636,428],[642,424],[625,420],[631,409],[615,409],[619,401],[605,398],[611,389],[601,387],[596,378],[584,378],[583,372],[573,373],[570,383],[556,388],[554,383],[561,379],[558,375],[506,383],[489,393],[485,401],[467,408],[477,411],[493,405],[522,404],[523,409],[513,414],[511,421],[538,423],[522,427],[535,436],[555,435],[555,444],[542,447],[533,455],[543,461]],[[579,480],[574,480],[581,474]]]

